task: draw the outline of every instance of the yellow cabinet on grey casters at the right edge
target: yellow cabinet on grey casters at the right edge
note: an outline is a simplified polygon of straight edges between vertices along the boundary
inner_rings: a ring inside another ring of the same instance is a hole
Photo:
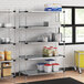
[[[84,67],[84,51],[75,51],[74,52],[74,60],[75,60],[75,71],[78,69],[78,72],[82,73],[82,69]]]

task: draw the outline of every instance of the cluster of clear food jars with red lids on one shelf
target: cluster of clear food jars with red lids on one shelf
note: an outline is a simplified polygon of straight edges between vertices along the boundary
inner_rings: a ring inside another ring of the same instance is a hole
[[[51,56],[56,56],[56,55],[57,55],[57,48],[53,48],[53,46],[50,46],[50,48],[44,46],[43,48],[43,56],[44,57],[51,57]]]

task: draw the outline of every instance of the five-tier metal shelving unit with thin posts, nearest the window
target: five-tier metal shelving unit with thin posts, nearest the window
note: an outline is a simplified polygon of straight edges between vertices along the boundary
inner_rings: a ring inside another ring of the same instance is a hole
[[[19,13],[20,14],[22,14],[22,13],[25,13],[25,15],[24,15],[24,18],[25,18],[25,25],[20,25],[20,17],[19,17],[19,29],[48,29],[48,28],[55,28],[55,29],[57,29],[57,28],[60,28],[61,27],[61,23],[60,23],[60,12],[61,11],[28,11],[28,10],[19,10]],[[39,14],[39,13],[55,13],[54,15],[56,15],[56,14],[59,14],[59,20],[55,20],[55,25],[53,24],[53,27],[51,25],[49,25],[49,27],[44,27],[44,25],[28,25],[28,22],[27,22],[27,14],[28,13],[36,13],[36,14]],[[54,31],[55,33],[56,33],[56,30]],[[59,32],[59,31],[57,31]],[[25,33],[27,33],[27,31],[25,31]],[[27,35],[27,34],[25,34]],[[20,41],[20,38],[19,38],[19,43],[21,43],[21,44],[23,44],[23,43],[25,43],[25,44],[42,44],[42,43],[55,43],[55,45],[56,45],[56,43],[59,44],[59,42],[29,42],[29,41],[27,41],[27,39],[25,39],[25,41]],[[20,50],[19,50],[19,54],[20,54]],[[19,72],[21,73],[21,74],[23,74],[23,75],[43,75],[43,74],[54,74],[54,73],[59,73],[59,72],[63,72],[63,71],[57,71],[57,72],[51,72],[51,73],[44,73],[44,72],[38,72],[38,70],[28,70],[27,69],[27,64],[28,64],[28,60],[45,60],[45,59],[56,59],[56,57],[60,57],[60,56],[62,56],[62,57],[64,57],[65,55],[62,55],[62,54],[59,54],[59,55],[56,55],[56,56],[51,56],[51,57],[43,57],[42,55],[39,55],[39,54],[35,54],[35,55],[19,55],[19,61],[21,62],[22,60],[24,60],[24,63],[25,63],[25,70],[24,71],[21,71],[20,70],[20,62],[19,62]]]

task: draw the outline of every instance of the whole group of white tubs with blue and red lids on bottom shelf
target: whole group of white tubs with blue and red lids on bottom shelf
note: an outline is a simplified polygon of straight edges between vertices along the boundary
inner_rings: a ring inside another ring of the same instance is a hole
[[[55,60],[53,59],[48,59],[45,60],[45,63],[38,63],[36,65],[40,72],[46,72],[46,73],[57,72],[60,69],[60,64],[56,63]]]

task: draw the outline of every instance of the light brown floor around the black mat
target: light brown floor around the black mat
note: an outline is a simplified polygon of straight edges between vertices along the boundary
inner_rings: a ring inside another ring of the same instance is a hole
[[[14,80],[13,78],[0,80],[0,84],[25,83],[25,82],[62,78],[62,77],[72,77],[84,83],[84,71],[82,74],[78,74],[78,72],[74,72],[74,71],[66,71],[65,73],[56,73],[50,75],[39,75],[39,76],[30,76],[30,77],[17,76]]]

